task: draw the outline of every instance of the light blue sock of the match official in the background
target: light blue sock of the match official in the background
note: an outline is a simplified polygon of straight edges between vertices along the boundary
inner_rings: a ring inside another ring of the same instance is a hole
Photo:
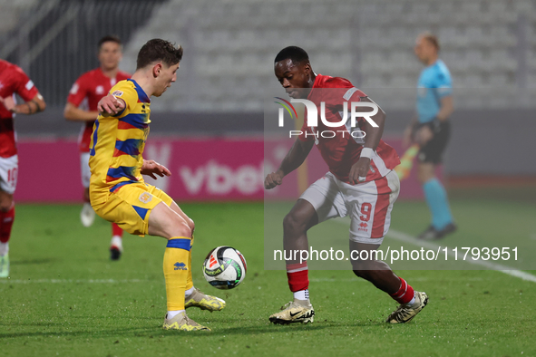
[[[432,226],[442,230],[449,223],[453,223],[449,201],[441,182],[437,178],[432,178],[424,183],[423,189],[426,203],[432,213]]]

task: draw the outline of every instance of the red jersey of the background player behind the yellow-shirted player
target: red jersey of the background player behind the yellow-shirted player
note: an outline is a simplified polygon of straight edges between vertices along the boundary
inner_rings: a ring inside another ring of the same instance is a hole
[[[112,87],[120,81],[128,80],[131,75],[126,72],[118,71],[115,78],[109,78],[104,75],[101,68],[97,68],[81,75],[71,88],[67,101],[75,107],[81,107],[86,111],[97,111],[97,104]],[[97,118],[95,118],[96,120]],[[89,152],[89,144],[93,132],[95,121],[86,121],[78,138],[78,149],[80,152]]]

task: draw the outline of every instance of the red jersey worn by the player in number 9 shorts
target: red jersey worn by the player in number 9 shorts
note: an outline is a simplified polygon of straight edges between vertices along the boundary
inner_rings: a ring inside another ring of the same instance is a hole
[[[348,117],[346,125],[339,127],[327,127],[318,118],[318,126],[315,128],[307,127],[307,120],[304,121],[302,134],[299,140],[308,141],[315,140],[318,150],[322,158],[326,161],[329,171],[336,178],[349,183],[348,176],[350,169],[360,158],[361,150],[365,139],[360,138],[363,134],[358,132],[351,135],[354,128],[350,127],[350,102],[361,101],[365,97],[364,92],[359,91],[354,85],[344,78],[330,77],[318,74],[313,84],[313,88],[307,100],[312,101],[317,106],[318,116],[320,115],[320,102],[326,104],[326,121],[340,122],[343,115],[343,103],[348,102]],[[307,112],[306,112],[307,118]],[[359,128],[356,130],[364,130],[365,119],[358,118],[356,125]],[[325,132],[326,131],[326,132]],[[329,131],[329,132],[327,132]],[[306,134],[307,133],[307,134]],[[324,133],[324,137],[320,135]],[[370,160],[370,170],[366,175],[365,181],[373,181],[378,178],[383,178],[389,171],[395,169],[400,163],[396,151],[389,145],[385,144],[384,140],[380,140],[378,147],[375,150]]]

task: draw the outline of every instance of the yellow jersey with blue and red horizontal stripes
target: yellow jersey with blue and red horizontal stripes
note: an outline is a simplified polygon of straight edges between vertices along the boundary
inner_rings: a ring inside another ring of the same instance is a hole
[[[92,205],[103,203],[123,185],[143,182],[141,166],[149,134],[151,100],[134,80],[118,82],[110,93],[125,102],[112,117],[99,115],[93,126],[89,165]]]

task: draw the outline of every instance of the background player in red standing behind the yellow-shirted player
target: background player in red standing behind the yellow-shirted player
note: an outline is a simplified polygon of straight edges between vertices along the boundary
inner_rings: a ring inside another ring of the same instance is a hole
[[[84,122],[78,140],[83,198],[85,200],[80,219],[84,227],[90,227],[95,218],[95,212],[89,201],[91,172],[88,161],[93,124],[99,115],[97,103],[117,82],[131,78],[129,73],[119,71],[119,63],[122,59],[122,43],[118,37],[102,37],[99,41],[98,58],[101,66],[93,71],[83,73],[74,82],[63,111],[63,115],[68,121]],[[122,229],[115,223],[112,223],[110,253],[112,260],[119,259],[122,254]]]

